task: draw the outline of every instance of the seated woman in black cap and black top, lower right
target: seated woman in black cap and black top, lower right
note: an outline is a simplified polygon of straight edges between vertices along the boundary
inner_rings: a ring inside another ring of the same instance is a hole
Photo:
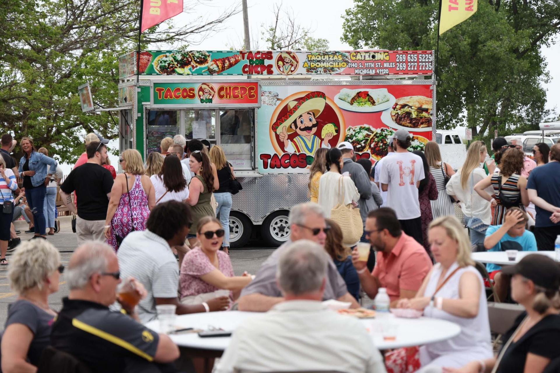
[[[511,298],[524,306],[510,330],[502,337],[497,357],[472,361],[456,373],[542,373],[551,361],[560,358],[560,267],[542,254],[525,256],[502,273],[512,276]],[[549,367],[547,372],[554,371]]]

